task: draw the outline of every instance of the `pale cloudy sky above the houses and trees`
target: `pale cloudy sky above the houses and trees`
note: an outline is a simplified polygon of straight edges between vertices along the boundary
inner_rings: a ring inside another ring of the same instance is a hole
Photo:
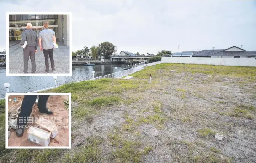
[[[231,46],[256,50],[256,1],[0,1],[6,12],[72,12],[72,51],[111,42],[118,53],[157,54]],[[4,27],[4,28],[2,28]]]

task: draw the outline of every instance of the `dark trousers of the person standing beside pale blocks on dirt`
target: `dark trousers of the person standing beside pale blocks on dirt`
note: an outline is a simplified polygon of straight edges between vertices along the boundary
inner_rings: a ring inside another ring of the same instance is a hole
[[[49,95],[39,95],[38,100],[38,108],[40,112],[45,112],[46,109],[46,102],[49,98]],[[37,95],[25,95],[21,104],[21,112],[18,117],[18,125],[26,125],[27,124],[27,117],[30,116],[32,112],[32,107],[36,102]],[[23,121],[19,121],[19,119]],[[22,123],[23,122],[23,123]]]

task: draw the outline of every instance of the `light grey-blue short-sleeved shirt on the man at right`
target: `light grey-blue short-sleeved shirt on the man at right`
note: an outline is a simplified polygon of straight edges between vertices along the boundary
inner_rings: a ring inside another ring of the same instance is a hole
[[[39,39],[42,39],[43,49],[53,49],[53,36],[55,36],[55,32],[52,29],[45,28],[39,32]]]

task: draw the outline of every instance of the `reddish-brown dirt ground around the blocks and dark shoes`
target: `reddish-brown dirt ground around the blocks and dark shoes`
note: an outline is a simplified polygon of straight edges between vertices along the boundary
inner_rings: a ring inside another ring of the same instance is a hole
[[[9,99],[17,98],[17,102],[13,100],[8,102],[8,110],[15,105],[15,103],[19,103],[22,101],[24,96],[9,96]],[[32,117],[62,117],[61,120],[55,121],[54,123],[58,126],[58,134],[55,138],[51,138],[49,146],[69,146],[69,111],[64,106],[64,99],[68,99],[69,96],[50,96],[48,98],[47,107],[52,110],[53,115],[46,115],[39,112],[37,108],[37,103],[34,104],[31,112]],[[28,124],[32,126],[36,126],[35,123]],[[67,126],[67,128],[59,127],[59,126]],[[17,137],[15,130],[11,129],[11,137],[8,139],[8,146],[39,146],[36,143],[32,143],[27,140],[27,129],[25,129],[24,135],[22,137]]]

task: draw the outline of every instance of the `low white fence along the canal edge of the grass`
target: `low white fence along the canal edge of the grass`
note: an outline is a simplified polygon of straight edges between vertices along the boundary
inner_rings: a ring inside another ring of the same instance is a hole
[[[115,73],[112,73],[112,74],[91,78],[89,80],[104,79],[104,78],[117,78],[117,79],[120,79],[120,78],[122,78],[124,76],[128,76],[129,74],[133,74],[134,72],[140,71],[140,70],[144,69],[144,67],[146,67],[146,66],[153,66],[153,65],[160,64],[160,63],[161,63],[161,61],[153,62],[153,63],[148,63],[148,64],[144,64],[144,65],[140,65],[140,66],[136,66],[136,67],[130,68],[128,70],[118,71],[118,72],[115,72]],[[80,81],[89,81],[89,80],[76,80],[76,81],[72,81],[72,82],[76,83],[76,82],[80,82]],[[70,83],[72,83],[72,82],[70,82]],[[62,86],[62,85],[59,85],[59,86]],[[59,86],[57,86],[57,87],[59,87]],[[54,89],[54,88],[57,88],[57,87],[50,87],[50,88],[46,88],[46,89],[41,89],[41,90],[29,92],[29,93],[36,93],[36,92],[46,91],[46,90]],[[0,98],[0,99],[5,99],[5,98]]]

